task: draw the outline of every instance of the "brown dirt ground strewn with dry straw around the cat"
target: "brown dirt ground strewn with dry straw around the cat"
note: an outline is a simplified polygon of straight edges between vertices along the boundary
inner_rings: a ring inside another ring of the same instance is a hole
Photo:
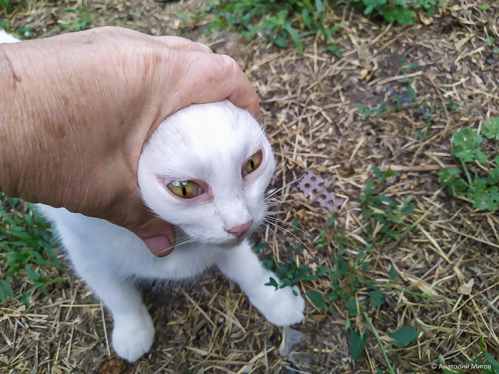
[[[30,25],[30,37],[42,37],[65,32],[59,22],[88,12],[88,27],[119,25],[154,35],[177,34],[233,56],[258,92],[277,156],[269,191],[312,171],[326,181],[327,191],[341,198],[337,226],[359,243],[365,219],[357,199],[374,178],[371,165],[383,169],[455,164],[453,134],[464,127],[479,129],[484,119],[499,116],[499,56],[485,40],[489,35],[499,40],[497,4],[480,11],[482,1],[452,1],[442,14],[421,16],[414,25],[386,27],[339,5],[328,21],[342,24],[334,34],[341,57],[323,52],[323,42],[313,36],[304,41],[300,56],[293,48],[245,43],[228,31],[204,35],[210,19],[184,16],[203,4],[37,0],[0,18],[8,17],[13,29]],[[68,8],[81,10],[64,12]],[[411,63],[419,65],[408,68]],[[419,99],[425,97],[435,108],[452,100],[457,108],[432,110],[428,128],[418,111],[364,118],[356,106],[375,108],[385,100],[393,107],[392,96],[407,88],[404,76],[413,79]],[[425,129],[426,137],[416,135]],[[486,152],[491,155],[493,147]],[[317,240],[329,212],[297,184],[288,191],[295,194],[284,198],[296,201],[276,205],[276,217],[298,221]],[[432,296],[415,300],[387,289],[386,302],[368,310],[385,346],[392,342],[387,334],[401,326],[420,332],[416,341],[386,351],[394,372],[442,373],[431,366],[438,364],[439,355],[450,365],[474,361],[481,336],[486,350],[498,358],[497,212],[479,211],[465,199],[450,197],[435,171],[409,168],[389,180],[385,193],[400,201],[414,198],[411,223],[427,213],[402,240],[369,254],[368,276],[387,280],[394,264],[400,287]],[[288,239],[272,226],[254,240],[267,243],[262,258],[273,254],[282,260],[291,253]],[[334,243],[317,249],[314,240],[302,240],[309,249],[296,255],[298,263],[314,267],[323,265],[318,259],[332,262]],[[355,362],[351,359],[345,309],[339,302],[331,312],[308,302],[305,319],[293,326],[302,333],[294,347],[297,354],[281,356],[282,329],[266,322],[239,288],[216,271],[193,284],[146,290],[156,337],[150,353],[129,364],[114,354],[112,321],[92,292],[67,266],[47,273],[63,279],[47,287],[48,297],[35,293],[27,311],[17,301],[0,306],[0,361],[10,367],[0,366],[0,373],[388,373],[372,335],[366,352]],[[471,279],[471,293],[459,293]],[[18,287],[23,282],[19,277]],[[328,292],[319,281],[302,282],[300,287],[302,292]],[[351,323],[357,331],[365,327],[359,317]]]

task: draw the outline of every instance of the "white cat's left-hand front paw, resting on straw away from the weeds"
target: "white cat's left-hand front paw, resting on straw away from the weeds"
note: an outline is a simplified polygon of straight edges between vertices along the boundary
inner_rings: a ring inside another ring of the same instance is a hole
[[[115,317],[113,347],[118,356],[134,362],[149,352],[154,338],[154,325],[144,306],[140,314]]]

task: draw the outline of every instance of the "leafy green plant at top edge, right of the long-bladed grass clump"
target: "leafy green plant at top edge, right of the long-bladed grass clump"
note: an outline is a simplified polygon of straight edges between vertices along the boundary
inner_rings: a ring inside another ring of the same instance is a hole
[[[401,25],[415,21],[414,10],[424,10],[426,15],[437,12],[450,0],[350,0],[353,6],[363,9],[365,15],[381,16],[388,22]]]

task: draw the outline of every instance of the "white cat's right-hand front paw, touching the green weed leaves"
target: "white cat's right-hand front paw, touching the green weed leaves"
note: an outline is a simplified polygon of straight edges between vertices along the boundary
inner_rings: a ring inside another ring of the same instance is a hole
[[[266,287],[264,295],[250,299],[250,302],[268,322],[276,326],[289,326],[303,320],[305,300],[298,287],[284,287],[277,290],[270,286]],[[293,294],[293,290],[297,296]]]

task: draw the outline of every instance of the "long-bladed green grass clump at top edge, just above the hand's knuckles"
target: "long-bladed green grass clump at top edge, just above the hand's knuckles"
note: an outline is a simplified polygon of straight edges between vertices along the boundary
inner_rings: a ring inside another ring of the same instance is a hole
[[[205,13],[215,15],[208,28],[226,28],[248,40],[263,39],[285,47],[288,38],[303,53],[301,39],[319,33],[328,43],[325,50],[337,56],[341,51],[331,43],[333,32],[341,25],[329,24],[327,5],[323,0],[215,0]]]

